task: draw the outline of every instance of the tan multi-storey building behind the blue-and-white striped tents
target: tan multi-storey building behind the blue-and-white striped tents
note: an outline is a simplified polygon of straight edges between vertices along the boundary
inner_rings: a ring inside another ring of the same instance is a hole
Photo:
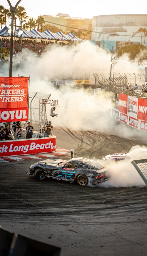
[[[70,17],[68,14],[59,13],[54,15],[43,15],[45,24],[49,24],[58,27],[59,30],[63,30],[66,34],[71,31],[81,31],[81,35],[78,37],[81,39],[91,40],[92,19]],[[52,31],[51,31],[52,32]]]

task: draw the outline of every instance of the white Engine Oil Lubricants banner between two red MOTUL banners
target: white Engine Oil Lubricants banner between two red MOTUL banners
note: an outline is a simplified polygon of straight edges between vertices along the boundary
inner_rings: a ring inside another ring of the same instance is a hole
[[[127,114],[131,117],[137,118],[138,112],[138,98],[128,96]]]

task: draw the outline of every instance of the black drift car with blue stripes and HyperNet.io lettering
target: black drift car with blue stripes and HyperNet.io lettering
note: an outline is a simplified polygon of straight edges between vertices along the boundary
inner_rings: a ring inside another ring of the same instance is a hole
[[[47,159],[31,165],[27,174],[34,174],[39,181],[51,178],[87,186],[88,181],[95,185],[110,179],[109,168],[107,165],[83,157],[71,158],[68,161]]]

